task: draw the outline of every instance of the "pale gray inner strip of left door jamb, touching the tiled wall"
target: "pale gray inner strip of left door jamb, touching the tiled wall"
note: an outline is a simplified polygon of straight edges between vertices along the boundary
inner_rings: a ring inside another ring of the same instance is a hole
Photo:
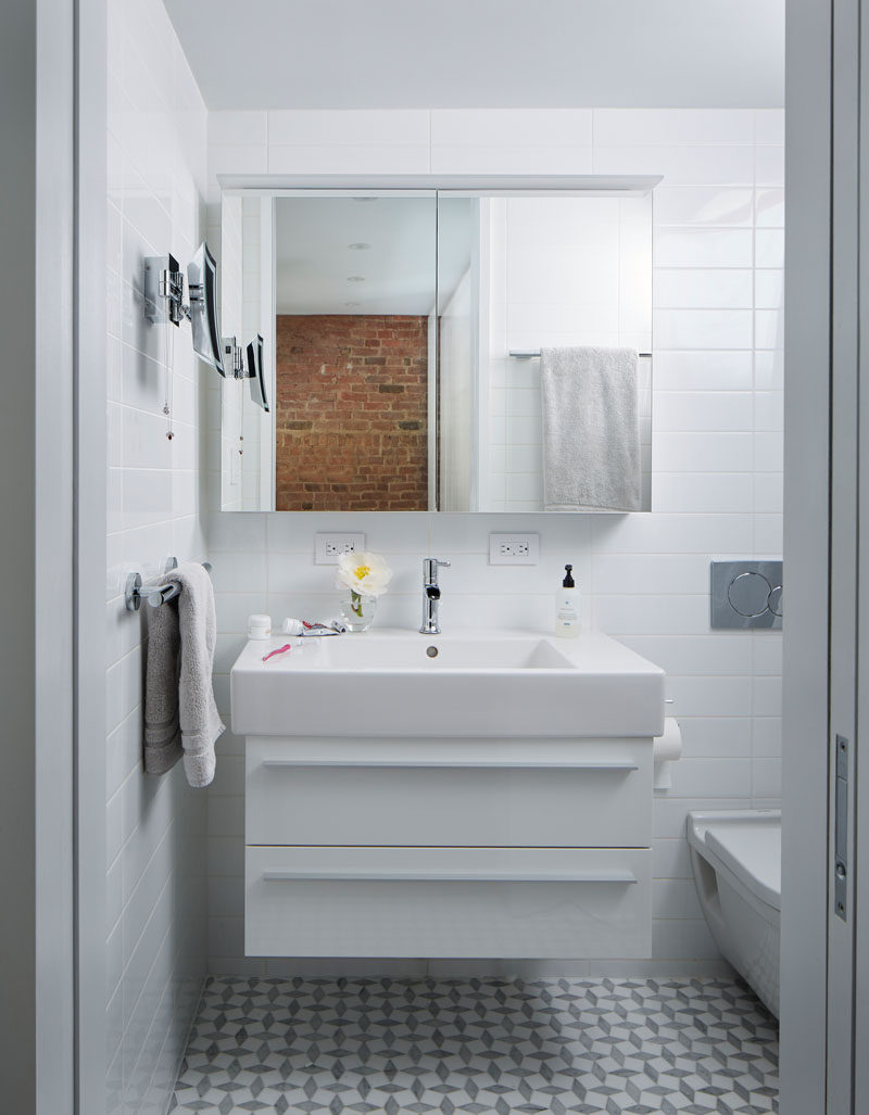
[[[76,1113],[104,1111],[106,1063],[107,2],[76,0]]]

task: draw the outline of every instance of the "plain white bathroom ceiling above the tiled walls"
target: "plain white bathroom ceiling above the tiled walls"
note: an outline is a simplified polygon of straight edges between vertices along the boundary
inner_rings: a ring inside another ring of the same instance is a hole
[[[211,109],[784,103],[784,0],[165,4]]]

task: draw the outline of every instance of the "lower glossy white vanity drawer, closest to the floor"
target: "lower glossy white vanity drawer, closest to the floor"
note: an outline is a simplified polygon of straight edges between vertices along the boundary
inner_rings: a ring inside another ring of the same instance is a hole
[[[248,956],[647,957],[650,852],[249,847]]]

